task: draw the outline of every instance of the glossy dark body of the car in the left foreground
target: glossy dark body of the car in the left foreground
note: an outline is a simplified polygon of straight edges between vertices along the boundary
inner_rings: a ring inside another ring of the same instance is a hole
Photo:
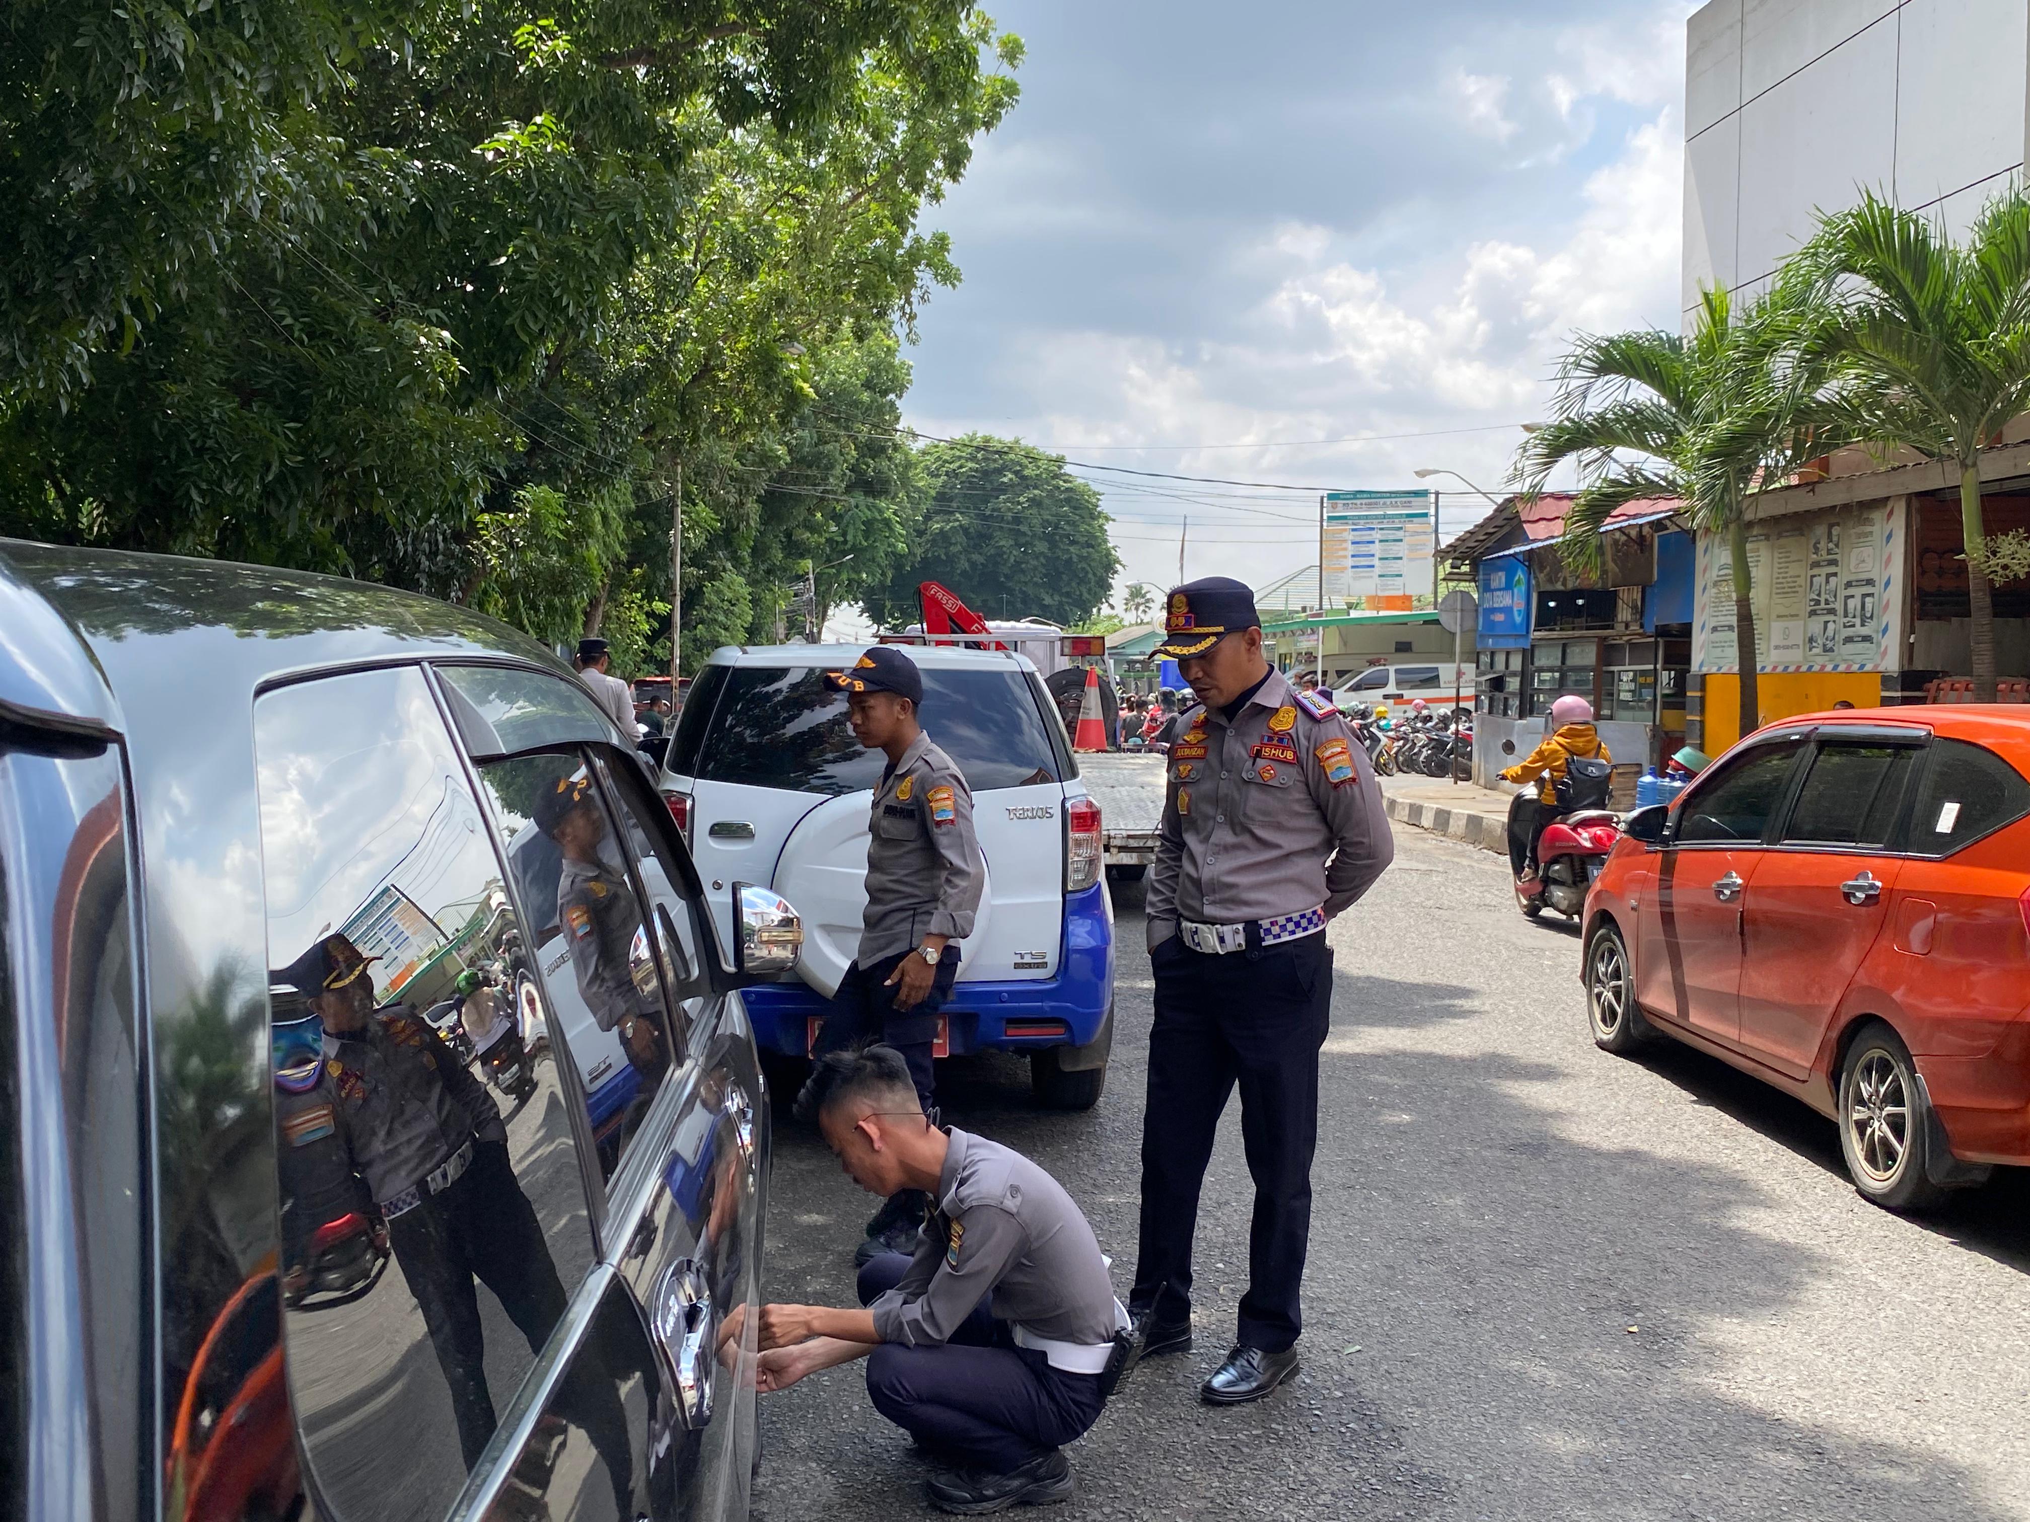
[[[290,1120],[280,1088],[319,1080],[317,1035],[286,1057],[272,1045],[304,1011],[268,972],[286,956],[264,901],[256,716],[274,692],[359,674],[428,694],[418,722],[457,757],[447,775],[471,779],[465,846],[501,860],[449,668],[568,684],[566,718],[583,696],[548,651],[428,599],[0,542],[0,1516],[747,1514],[767,1096],[702,885],[611,727],[568,718],[540,759],[597,775],[637,830],[633,881],[662,895],[644,891],[660,931],[637,936],[635,974],[644,996],[670,986],[666,1049],[627,1090],[625,1143],[587,1118],[556,1005],[568,970],[499,931],[524,909],[510,875],[471,901],[473,929],[430,946],[432,968],[479,966],[459,936],[493,938],[501,1019],[530,1035],[554,1098],[546,1189],[570,1199],[538,1201],[546,1230],[568,1216],[585,1234],[583,1262],[558,1254],[562,1311],[522,1327],[526,1354],[479,1291],[497,1425],[469,1473],[424,1473],[449,1410],[436,1327],[424,1335],[388,1262],[380,1207],[339,1199],[286,1240],[298,1197],[278,1165],[325,1132]],[[670,950],[686,936],[702,956]],[[497,1108],[512,1138],[542,1118],[520,1090]],[[284,1293],[304,1252],[327,1256]],[[347,1352],[363,1372],[339,1380],[319,1427],[335,1435],[307,1439],[302,1392],[331,1386],[313,1364]],[[613,1423],[589,1447],[595,1404]]]

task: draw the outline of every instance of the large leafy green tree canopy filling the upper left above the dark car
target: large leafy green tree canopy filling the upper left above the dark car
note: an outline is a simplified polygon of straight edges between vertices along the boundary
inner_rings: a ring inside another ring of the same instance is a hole
[[[956,280],[918,215],[1017,61],[966,0],[18,0],[0,532],[615,619],[646,660],[680,493],[684,591],[771,619],[786,515],[879,540],[849,432],[907,453],[893,331]],[[777,465],[816,487],[767,501]]]

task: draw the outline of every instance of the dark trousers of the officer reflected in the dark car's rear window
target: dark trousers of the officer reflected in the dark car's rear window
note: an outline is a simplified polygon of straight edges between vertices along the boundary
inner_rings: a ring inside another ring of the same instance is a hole
[[[475,1143],[473,1163],[457,1183],[388,1222],[388,1244],[430,1329],[436,1364],[451,1386],[459,1449],[471,1469],[495,1425],[473,1281],[493,1291],[528,1339],[530,1356],[542,1352],[564,1315],[564,1285],[536,1209],[514,1177],[507,1143]],[[627,1414],[597,1364],[589,1350],[581,1350],[558,1392],[558,1412],[591,1437],[625,1516],[633,1463]]]

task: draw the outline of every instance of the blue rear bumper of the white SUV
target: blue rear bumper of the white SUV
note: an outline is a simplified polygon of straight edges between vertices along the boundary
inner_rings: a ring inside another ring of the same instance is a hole
[[[1094,883],[1064,901],[1056,978],[960,982],[952,988],[944,1005],[952,1055],[1088,1045],[1100,1035],[1112,996],[1114,925],[1106,911],[1106,887]],[[741,1002],[755,1027],[755,1043],[794,1057],[808,1051],[810,1017],[832,1007],[806,982],[755,984],[741,990]],[[1011,1025],[1017,1027],[1013,1033]]]

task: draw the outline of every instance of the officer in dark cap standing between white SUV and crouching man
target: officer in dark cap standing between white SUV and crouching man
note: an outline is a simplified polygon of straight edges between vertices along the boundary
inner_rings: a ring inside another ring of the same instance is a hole
[[[909,1063],[918,1100],[936,1114],[932,1045],[958,978],[956,942],[972,933],[987,864],[972,832],[972,789],[918,724],[924,676],[893,645],[875,645],[826,686],[847,694],[847,722],[887,755],[867,836],[867,909],[853,966],[812,1055],[883,1041]],[[905,1250],[926,1195],[895,1193],[867,1224],[857,1256]]]

